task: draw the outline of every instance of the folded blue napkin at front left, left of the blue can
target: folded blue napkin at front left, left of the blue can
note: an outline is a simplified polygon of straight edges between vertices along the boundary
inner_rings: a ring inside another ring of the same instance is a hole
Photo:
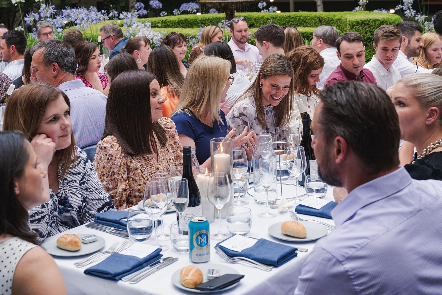
[[[89,276],[98,276],[103,279],[118,281],[123,276],[130,275],[163,257],[160,252],[161,249],[158,248],[144,258],[112,253],[99,264],[85,269],[84,273]]]

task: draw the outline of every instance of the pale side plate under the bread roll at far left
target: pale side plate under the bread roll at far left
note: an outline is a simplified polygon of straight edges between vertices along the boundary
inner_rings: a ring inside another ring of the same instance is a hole
[[[100,236],[97,236],[97,240],[95,242],[91,242],[88,244],[81,243],[81,248],[77,251],[68,251],[64,249],[60,249],[57,246],[57,238],[63,235],[57,234],[56,236],[47,238],[44,240],[40,246],[42,246],[43,249],[46,250],[47,253],[54,255],[54,256],[61,256],[61,257],[75,257],[75,256],[81,256],[86,255],[90,253],[94,253],[98,251],[99,249],[103,248],[103,246],[106,244],[106,241],[101,238]],[[76,234],[78,237],[83,238],[85,236],[88,236],[90,234]]]

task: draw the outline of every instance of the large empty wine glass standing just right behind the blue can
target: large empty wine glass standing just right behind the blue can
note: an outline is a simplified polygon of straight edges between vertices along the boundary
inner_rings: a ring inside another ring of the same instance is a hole
[[[227,235],[221,232],[221,209],[229,203],[232,197],[229,176],[225,172],[210,173],[209,184],[207,186],[207,198],[218,209],[218,233],[211,237],[214,240],[224,240]]]

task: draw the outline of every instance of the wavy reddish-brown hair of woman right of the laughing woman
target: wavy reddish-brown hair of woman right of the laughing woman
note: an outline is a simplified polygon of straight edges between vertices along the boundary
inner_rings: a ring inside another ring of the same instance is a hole
[[[294,91],[306,96],[313,93],[318,94],[319,89],[311,88],[307,78],[312,71],[324,67],[324,58],[312,46],[301,45],[291,50],[286,57],[292,64],[294,71]]]

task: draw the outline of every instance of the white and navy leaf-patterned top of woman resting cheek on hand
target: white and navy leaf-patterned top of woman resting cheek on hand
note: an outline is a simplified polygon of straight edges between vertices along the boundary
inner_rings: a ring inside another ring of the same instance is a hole
[[[30,230],[38,234],[38,243],[54,234],[91,221],[99,212],[116,210],[86,153],[77,147],[76,154],[78,159],[75,167],[65,177],[61,178],[61,165],[58,169],[60,188],[57,194],[49,189],[49,202],[29,211]],[[69,204],[67,211],[61,213],[67,203],[65,196]]]

